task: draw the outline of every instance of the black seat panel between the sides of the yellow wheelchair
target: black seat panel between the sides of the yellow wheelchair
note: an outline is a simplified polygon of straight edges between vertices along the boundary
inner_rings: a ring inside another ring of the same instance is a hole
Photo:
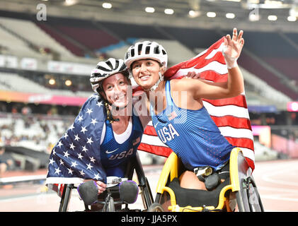
[[[176,177],[168,185],[176,196],[176,203],[181,206],[214,206],[217,207],[219,202],[219,193],[224,186],[229,185],[229,178],[225,179],[222,184],[219,184],[216,189],[212,191],[198,190],[198,189],[185,189],[180,186],[179,179]]]

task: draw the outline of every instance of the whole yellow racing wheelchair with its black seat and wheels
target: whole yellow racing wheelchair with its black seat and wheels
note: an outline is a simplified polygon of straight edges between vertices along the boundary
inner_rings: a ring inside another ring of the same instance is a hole
[[[149,212],[263,212],[263,205],[240,148],[231,150],[229,176],[212,191],[185,189],[179,176],[185,171],[175,153],[166,160]]]

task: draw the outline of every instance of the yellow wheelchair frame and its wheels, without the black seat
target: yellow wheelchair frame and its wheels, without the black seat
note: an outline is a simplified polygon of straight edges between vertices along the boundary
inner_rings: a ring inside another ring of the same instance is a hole
[[[197,211],[233,211],[229,207],[229,196],[227,192],[233,192],[236,194],[236,203],[238,210],[241,212],[256,212],[263,211],[263,206],[260,201],[258,190],[256,189],[256,183],[253,181],[251,168],[243,157],[240,148],[234,148],[231,150],[230,160],[230,183],[224,186],[219,192],[218,205],[217,206],[178,206],[176,202],[176,195],[168,184],[173,181],[174,178],[179,178],[183,170],[183,164],[175,153],[171,153],[165,162],[165,165],[161,171],[159,182],[156,187],[156,199],[152,204],[154,208],[150,208],[151,211],[157,211],[156,206],[161,208],[161,196],[166,191],[170,196],[171,205],[168,206],[168,210],[172,212],[197,212]]]

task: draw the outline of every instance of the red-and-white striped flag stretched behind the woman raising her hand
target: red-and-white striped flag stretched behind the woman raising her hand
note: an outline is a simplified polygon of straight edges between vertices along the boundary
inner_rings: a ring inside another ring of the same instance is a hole
[[[228,71],[222,55],[223,46],[224,37],[196,57],[169,68],[165,73],[165,78],[183,78],[189,71],[195,71],[200,73],[200,78],[206,81],[227,81]],[[135,88],[135,90],[139,90],[139,88]],[[221,100],[203,99],[203,104],[215,124],[219,127],[222,135],[227,138],[231,145],[241,148],[248,165],[251,169],[254,169],[253,132],[245,93],[241,93],[237,97]],[[168,157],[172,152],[170,148],[159,140],[151,122],[149,122],[144,131],[142,143],[138,149],[164,157]]]

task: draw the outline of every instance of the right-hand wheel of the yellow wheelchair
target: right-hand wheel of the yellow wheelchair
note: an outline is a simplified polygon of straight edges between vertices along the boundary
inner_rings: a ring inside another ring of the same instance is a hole
[[[263,205],[252,177],[241,179],[240,191],[236,192],[239,212],[263,212]]]

